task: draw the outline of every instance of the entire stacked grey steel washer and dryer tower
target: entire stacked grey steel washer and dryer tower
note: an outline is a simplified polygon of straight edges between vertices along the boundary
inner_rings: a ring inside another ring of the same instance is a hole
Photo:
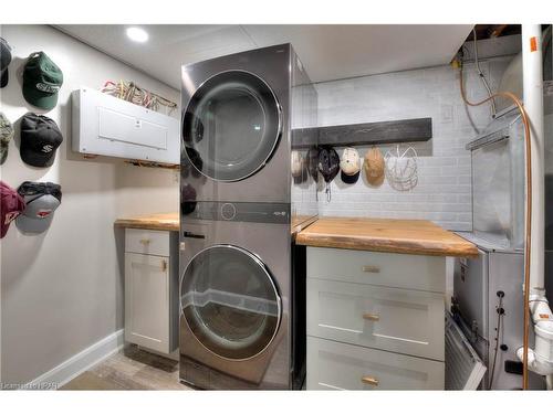
[[[293,229],[316,217],[316,174],[292,177],[291,160],[316,148],[316,93],[283,44],[186,65],[181,95],[180,381],[301,388]]]

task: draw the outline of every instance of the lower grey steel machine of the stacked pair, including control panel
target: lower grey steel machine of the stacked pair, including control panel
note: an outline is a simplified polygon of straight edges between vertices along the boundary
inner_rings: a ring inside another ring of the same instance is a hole
[[[290,204],[184,205],[180,381],[199,389],[299,389],[305,373],[304,251]]]

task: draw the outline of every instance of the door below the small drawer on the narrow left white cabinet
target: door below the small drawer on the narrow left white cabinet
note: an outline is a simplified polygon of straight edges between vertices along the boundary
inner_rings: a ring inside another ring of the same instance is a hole
[[[169,258],[125,253],[125,340],[169,353]]]

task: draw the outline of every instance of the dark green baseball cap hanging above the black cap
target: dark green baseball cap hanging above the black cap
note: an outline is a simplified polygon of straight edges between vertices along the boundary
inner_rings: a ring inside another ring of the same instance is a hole
[[[23,68],[23,97],[41,109],[52,109],[58,104],[58,93],[63,84],[63,73],[44,52],[34,52]]]

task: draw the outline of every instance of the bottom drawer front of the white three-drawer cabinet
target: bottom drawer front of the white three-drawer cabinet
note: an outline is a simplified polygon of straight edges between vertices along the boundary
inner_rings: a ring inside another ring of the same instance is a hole
[[[307,337],[307,390],[444,390],[445,363]]]

